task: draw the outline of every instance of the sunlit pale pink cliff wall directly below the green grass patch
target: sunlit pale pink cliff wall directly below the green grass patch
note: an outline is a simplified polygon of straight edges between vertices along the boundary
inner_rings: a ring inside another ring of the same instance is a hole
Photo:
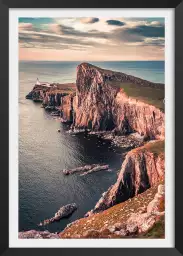
[[[150,139],[164,138],[164,113],[158,108],[130,98],[122,90],[115,100],[113,113],[119,131],[137,131]]]

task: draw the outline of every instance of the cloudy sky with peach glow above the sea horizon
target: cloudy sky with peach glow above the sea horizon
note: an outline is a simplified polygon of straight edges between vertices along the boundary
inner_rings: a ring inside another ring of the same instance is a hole
[[[19,18],[19,59],[164,60],[164,18]]]

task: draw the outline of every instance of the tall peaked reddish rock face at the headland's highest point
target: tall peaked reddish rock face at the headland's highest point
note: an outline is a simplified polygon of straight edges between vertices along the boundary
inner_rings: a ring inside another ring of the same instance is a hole
[[[112,108],[119,89],[105,84],[100,71],[88,64],[78,66],[76,88],[75,126],[112,130],[115,127]]]

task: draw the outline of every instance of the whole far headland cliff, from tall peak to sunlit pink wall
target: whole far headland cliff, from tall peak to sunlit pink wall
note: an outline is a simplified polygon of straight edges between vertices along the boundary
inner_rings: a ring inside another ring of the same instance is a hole
[[[163,86],[83,63],[77,68],[75,126],[96,131],[115,129],[121,134],[137,131],[150,139],[163,138],[164,113],[128,97],[115,85],[119,81],[133,82],[139,89],[142,85]]]

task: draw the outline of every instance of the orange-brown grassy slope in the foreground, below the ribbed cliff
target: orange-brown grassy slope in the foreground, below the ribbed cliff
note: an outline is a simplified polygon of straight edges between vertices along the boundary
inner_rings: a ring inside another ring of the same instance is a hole
[[[67,229],[65,229],[65,231],[60,233],[60,237],[72,238],[74,235],[77,234],[82,236],[85,231],[90,229],[100,230],[105,225],[112,226],[115,223],[123,223],[130,217],[131,213],[138,212],[138,209],[140,207],[147,206],[149,202],[153,200],[156,192],[157,186],[152,187],[146,190],[144,193],[139,194],[123,203],[117,204],[101,213],[95,214],[88,218],[80,219],[78,223],[73,224],[71,227],[68,227]],[[158,227],[156,228],[156,235],[158,235],[157,229]],[[163,233],[162,229],[163,225],[161,225],[161,235]],[[152,232],[151,237],[153,236],[153,233],[154,231]],[[102,234],[102,237],[109,238],[109,233],[107,233],[107,231],[105,230]],[[93,238],[95,238],[95,234]],[[112,235],[111,238],[118,238],[118,236]]]

